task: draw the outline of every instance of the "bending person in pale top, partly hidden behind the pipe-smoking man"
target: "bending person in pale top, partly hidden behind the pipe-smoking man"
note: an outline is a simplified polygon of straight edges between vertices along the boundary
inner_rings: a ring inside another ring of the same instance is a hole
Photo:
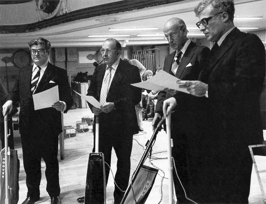
[[[146,71],[146,68],[143,66],[143,64],[140,63],[139,60],[137,59],[131,59],[130,62],[139,68],[140,77],[142,77],[142,75]],[[139,131],[143,131],[143,128],[141,127],[143,125],[142,124],[142,97],[141,97],[141,101],[137,105],[135,105],[135,110],[136,110],[137,119],[138,119]]]

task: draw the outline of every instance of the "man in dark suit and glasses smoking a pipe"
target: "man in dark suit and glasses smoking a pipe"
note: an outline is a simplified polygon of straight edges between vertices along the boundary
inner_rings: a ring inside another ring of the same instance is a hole
[[[130,176],[133,134],[138,133],[135,105],[141,99],[141,89],[130,84],[141,82],[141,78],[138,67],[120,59],[121,50],[117,40],[105,40],[100,50],[105,64],[95,68],[87,95],[102,103],[101,108],[89,104],[95,117],[99,116],[99,152],[103,153],[105,162],[110,166],[114,148],[117,155],[115,183],[124,191]],[[105,165],[106,183],[109,171]],[[120,203],[124,194],[118,187],[115,185],[114,190],[116,204]]]

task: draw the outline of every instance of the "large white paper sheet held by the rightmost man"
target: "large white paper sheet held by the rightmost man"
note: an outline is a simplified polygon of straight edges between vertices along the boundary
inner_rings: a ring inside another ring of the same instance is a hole
[[[174,89],[177,91],[189,92],[186,89],[179,88],[179,85],[176,84],[177,81],[180,81],[180,79],[174,77],[173,75],[161,70],[156,75],[154,75],[151,79],[131,84],[133,86],[147,89],[147,90],[154,90],[154,91],[162,91],[165,88]]]

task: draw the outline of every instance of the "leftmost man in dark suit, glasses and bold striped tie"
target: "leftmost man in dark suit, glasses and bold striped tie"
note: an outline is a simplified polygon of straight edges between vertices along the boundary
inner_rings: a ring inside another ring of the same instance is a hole
[[[21,135],[23,164],[26,172],[27,198],[22,204],[40,199],[41,158],[47,180],[46,190],[51,204],[61,203],[59,186],[58,135],[62,132],[61,112],[66,113],[73,99],[66,71],[48,62],[51,44],[44,38],[28,43],[33,67],[21,69],[13,90],[3,105],[3,115],[20,103],[19,132]],[[58,85],[59,100],[52,107],[34,110],[32,94]]]

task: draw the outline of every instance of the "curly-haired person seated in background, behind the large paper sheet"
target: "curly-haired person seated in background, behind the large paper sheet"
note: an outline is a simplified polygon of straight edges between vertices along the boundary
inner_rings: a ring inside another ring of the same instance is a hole
[[[151,70],[146,70],[144,72],[144,81],[149,80],[153,77]],[[148,120],[148,118],[153,118],[154,116],[154,101],[153,98],[157,97],[157,92],[153,90],[143,90],[142,92],[142,120]]]

